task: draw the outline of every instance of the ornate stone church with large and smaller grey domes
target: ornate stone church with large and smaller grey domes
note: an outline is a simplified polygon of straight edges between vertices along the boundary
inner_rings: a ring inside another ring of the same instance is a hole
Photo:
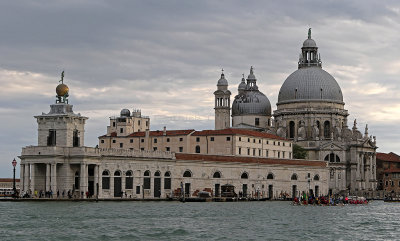
[[[356,120],[351,129],[348,127],[349,114],[344,105],[339,84],[322,69],[309,29],[298,69],[279,91],[274,121],[271,104],[258,90],[251,68],[247,83],[243,78],[232,104],[232,127],[257,129],[293,140],[307,151],[307,159],[329,162],[331,193],[364,194],[377,186],[376,138],[368,135],[368,126],[363,135]],[[224,108],[229,110],[229,105]],[[218,118],[216,112],[216,122]]]

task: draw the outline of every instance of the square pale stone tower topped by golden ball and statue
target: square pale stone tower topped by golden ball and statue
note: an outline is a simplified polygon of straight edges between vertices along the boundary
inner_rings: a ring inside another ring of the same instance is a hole
[[[35,116],[38,123],[39,146],[80,147],[84,145],[87,117],[75,114],[68,104],[69,88],[64,84],[64,71],[56,88],[56,103],[49,113]]]

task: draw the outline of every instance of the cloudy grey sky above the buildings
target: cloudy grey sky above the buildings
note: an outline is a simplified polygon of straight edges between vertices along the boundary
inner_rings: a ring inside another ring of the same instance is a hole
[[[33,116],[55,103],[63,70],[69,103],[89,117],[86,146],[123,108],[141,109],[153,130],[213,129],[221,69],[234,96],[254,66],[276,110],[308,28],[349,124],[400,153],[398,1],[1,1],[0,177],[37,145]]]

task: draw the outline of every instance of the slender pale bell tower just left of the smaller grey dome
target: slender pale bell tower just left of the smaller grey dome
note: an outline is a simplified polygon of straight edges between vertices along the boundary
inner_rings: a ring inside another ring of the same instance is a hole
[[[223,130],[230,127],[231,92],[228,90],[228,81],[225,79],[224,69],[217,83],[215,96],[215,129]]]

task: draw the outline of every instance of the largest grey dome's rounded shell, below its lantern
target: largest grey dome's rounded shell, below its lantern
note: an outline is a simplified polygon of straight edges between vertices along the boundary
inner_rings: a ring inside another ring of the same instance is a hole
[[[321,67],[300,68],[283,83],[278,104],[307,100],[343,103],[343,94],[336,80]]]

